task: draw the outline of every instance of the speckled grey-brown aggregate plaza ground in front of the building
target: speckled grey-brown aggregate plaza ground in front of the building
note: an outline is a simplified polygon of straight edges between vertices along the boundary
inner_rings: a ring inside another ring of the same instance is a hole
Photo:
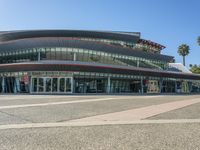
[[[133,150],[200,149],[200,123],[146,123],[45,126],[152,105],[200,99],[181,96],[0,96],[0,150]],[[200,104],[165,112],[145,120],[200,119]],[[43,127],[23,128],[42,123]],[[10,125],[22,125],[9,128]],[[5,126],[5,129],[1,128]],[[8,128],[7,128],[8,127]]]

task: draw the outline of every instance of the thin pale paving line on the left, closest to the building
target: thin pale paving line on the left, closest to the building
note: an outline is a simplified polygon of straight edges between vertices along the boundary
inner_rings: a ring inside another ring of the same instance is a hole
[[[109,101],[115,98],[99,98],[99,99],[84,99],[84,100],[75,100],[67,102],[50,102],[50,103],[37,103],[37,104],[25,104],[25,105],[10,105],[10,106],[0,106],[2,109],[11,109],[11,108],[24,108],[24,107],[38,107],[38,106],[49,106],[49,105],[62,105],[62,104],[75,104],[75,103],[87,103],[87,102],[97,102],[97,101]]]

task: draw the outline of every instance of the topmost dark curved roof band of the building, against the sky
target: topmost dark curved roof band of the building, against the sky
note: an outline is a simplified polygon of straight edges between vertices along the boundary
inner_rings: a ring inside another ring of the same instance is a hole
[[[139,32],[111,32],[111,31],[87,31],[87,30],[25,30],[7,31],[0,33],[0,42],[38,38],[38,37],[76,37],[112,39],[127,42],[137,42],[140,39]]]

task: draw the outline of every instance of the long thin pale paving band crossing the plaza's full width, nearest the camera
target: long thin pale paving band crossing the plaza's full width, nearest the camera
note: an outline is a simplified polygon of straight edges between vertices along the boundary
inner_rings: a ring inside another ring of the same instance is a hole
[[[59,122],[59,123],[27,123],[0,125],[0,130],[29,129],[29,128],[58,128],[58,127],[85,127],[101,125],[137,125],[137,124],[178,124],[200,123],[200,119],[173,119],[173,120],[135,120],[135,121],[91,121],[91,122]]]

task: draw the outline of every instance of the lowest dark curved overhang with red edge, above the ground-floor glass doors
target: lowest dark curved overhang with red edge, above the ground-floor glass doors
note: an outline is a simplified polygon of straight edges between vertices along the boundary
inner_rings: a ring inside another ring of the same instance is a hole
[[[192,73],[180,73],[159,71],[146,68],[104,65],[96,63],[83,63],[74,61],[42,61],[15,64],[0,64],[0,72],[19,72],[19,71],[78,71],[78,72],[101,72],[112,74],[126,74],[139,76],[152,76],[161,78],[176,78],[199,80],[200,75]]]

